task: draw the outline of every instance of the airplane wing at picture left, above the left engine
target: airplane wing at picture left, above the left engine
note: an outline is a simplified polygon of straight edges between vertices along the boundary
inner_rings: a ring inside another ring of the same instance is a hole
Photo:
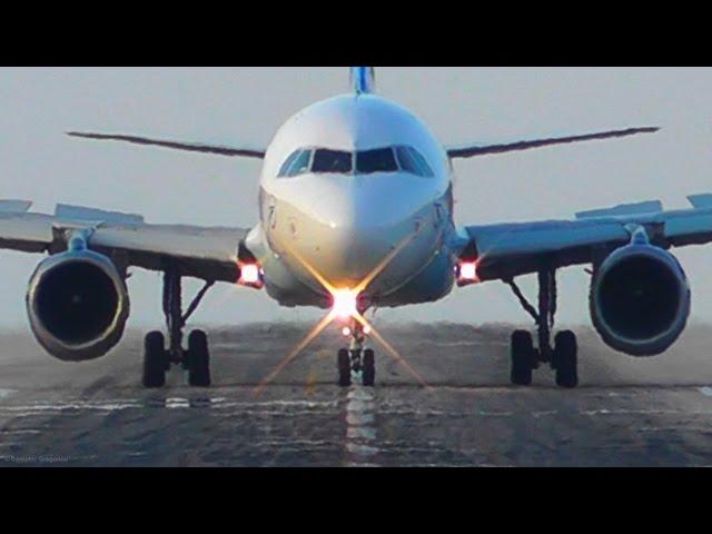
[[[0,201],[0,248],[57,253],[67,248],[72,230],[87,230],[91,250],[127,266],[160,271],[172,260],[185,276],[229,283],[239,277],[237,254],[247,229],[151,225],[141,216],[76,206],[46,215],[30,212],[30,206]]]

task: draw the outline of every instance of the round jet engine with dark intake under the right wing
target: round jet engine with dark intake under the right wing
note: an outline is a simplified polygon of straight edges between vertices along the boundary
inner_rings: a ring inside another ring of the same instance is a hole
[[[591,286],[591,317],[603,340],[631,356],[656,356],[690,316],[690,285],[678,259],[651,245],[615,250]]]

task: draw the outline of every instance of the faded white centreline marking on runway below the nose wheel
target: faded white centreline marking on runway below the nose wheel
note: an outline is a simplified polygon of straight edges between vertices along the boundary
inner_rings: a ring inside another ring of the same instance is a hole
[[[374,427],[374,394],[356,386],[346,398],[346,466],[378,467],[374,463],[374,457],[380,453]]]

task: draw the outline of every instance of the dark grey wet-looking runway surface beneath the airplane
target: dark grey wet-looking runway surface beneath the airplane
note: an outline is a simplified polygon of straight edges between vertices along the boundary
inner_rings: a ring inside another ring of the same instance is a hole
[[[264,393],[255,385],[308,325],[214,329],[214,382],[138,386],[142,339],[62,364],[26,334],[0,334],[1,466],[710,466],[712,328],[654,359],[581,333],[582,387],[508,385],[511,326],[405,325],[384,335],[425,389],[378,353],[378,385],[334,385],[325,334]]]

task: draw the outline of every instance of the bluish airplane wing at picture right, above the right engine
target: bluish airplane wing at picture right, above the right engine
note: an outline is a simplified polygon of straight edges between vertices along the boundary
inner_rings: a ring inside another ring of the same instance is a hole
[[[575,220],[468,226],[463,254],[477,259],[482,281],[508,280],[543,266],[587,265],[631,243],[644,229],[652,245],[671,248],[712,241],[712,195],[690,197],[692,209],[664,211],[659,201],[577,214]]]

